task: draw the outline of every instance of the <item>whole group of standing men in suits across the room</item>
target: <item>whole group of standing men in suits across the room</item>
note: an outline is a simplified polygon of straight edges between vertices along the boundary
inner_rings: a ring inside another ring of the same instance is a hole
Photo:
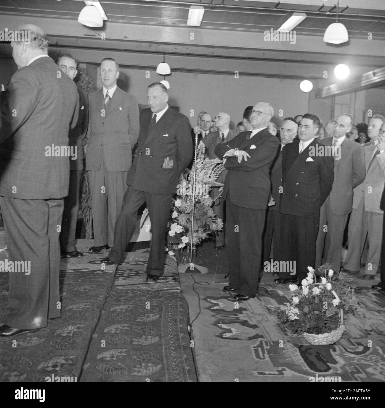
[[[197,141],[210,159],[224,161],[217,180],[223,189],[213,188],[210,194],[215,214],[226,220],[215,249],[229,247],[224,289],[237,292],[235,300],[255,296],[262,263],[271,254],[280,264],[295,265],[293,270],[280,268],[279,284],[300,284],[307,266],[321,262],[339,271],[349,213],[345,270],[359,269],[367,239],[364,278],[376,275],[385,253],[383,116],[370,119],[372,142],[364,146],[346,137],[353,124],[347,114],[333,120],[333,136],[325,140],[317,138],[322,126],[311,113],[285,118],[278,138],[268,102],[245,109],[237,134],[225,112],[214,120],[201,112],[199,126],[191,130],[189,119],[168,105],[163,84],[148,86],[149,107],[139,113],[135,97],[116,84],[118,63],[105,58],[100,64],[103,87],[87,96],[74,83],[78,61],[72,55],[62,54],[55,63],[39,27],[19,29],[30,31],[31,41],[11,42],[18,71],[1,95],[0,206],[9,260],[28,260],[31,273],[10,274],[10,311],[0,337],[38,330],[60,317],[60,256],[83,256],[75,246],[83,147],[94,221],[90,251],[110,249],[101,259],[104,264],[123,262],[137,212],[146,202],[152,225],[146,280],[163,274],[172,195]],[[47,155],[47,146],[77,154]],[[384,259],[381,266],[383,271]],[[385,289],[383,274],[373,287]]]

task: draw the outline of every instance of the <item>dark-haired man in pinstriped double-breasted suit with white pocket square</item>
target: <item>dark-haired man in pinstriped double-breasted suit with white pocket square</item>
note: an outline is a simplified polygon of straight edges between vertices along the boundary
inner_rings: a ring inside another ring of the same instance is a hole
[[[320,207],[334,180],[333,157],[314,139],[319,127],[318,117],[306,113],[298,126],[299,144],[289,144],[283,150],[278,255],[282,268],[276,283],[298,279],[301,284],[307,267],[315,267]],[[287,268],[287,262],[293,268]]]

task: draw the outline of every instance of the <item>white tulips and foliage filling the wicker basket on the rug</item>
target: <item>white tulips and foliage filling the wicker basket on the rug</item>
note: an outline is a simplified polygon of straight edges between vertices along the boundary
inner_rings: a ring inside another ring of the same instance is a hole
[[[354,278],[343,272],[336,276],[330,267],[324,264],[316,272],[308,266],[302,288],[289,285],[295,295],[278,314],[278,322],[292,333],[322,335],[336,330],[341,324],[341,310],[362,316],[354,296]]]

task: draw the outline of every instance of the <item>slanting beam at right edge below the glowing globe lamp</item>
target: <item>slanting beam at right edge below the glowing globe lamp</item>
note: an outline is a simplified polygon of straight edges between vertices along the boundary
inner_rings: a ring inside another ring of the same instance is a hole
[[[385,67],[374,71],[365,72],[358,80],[347,83],[331,84],[318,89],[316,98],[329,98],[330,96],[344,95],[346,93],[363,91],[364,89],[377,88],[385,84]]]

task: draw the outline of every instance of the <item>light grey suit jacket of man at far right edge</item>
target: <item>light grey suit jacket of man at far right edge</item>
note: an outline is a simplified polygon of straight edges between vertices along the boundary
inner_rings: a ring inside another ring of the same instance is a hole
[[[385,160],[382,157],[384,154],[374,157],[377,151],[377,146],[364,144],[366,177],[354,188],[353,208],[358,208],[360,201],[365,200],[365,211],[383,214],[380,202],[385,182]]]

